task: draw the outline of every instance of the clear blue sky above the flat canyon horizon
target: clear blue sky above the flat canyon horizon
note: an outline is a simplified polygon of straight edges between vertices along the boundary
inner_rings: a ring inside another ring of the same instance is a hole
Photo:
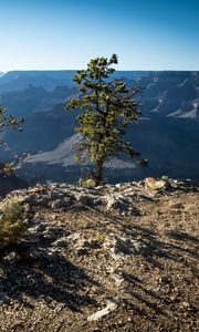
[[[199,70],[199,0],[0,0],[0,71]]]

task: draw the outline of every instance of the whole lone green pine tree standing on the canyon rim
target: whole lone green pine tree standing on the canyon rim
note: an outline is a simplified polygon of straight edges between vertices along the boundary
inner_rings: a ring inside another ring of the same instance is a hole
[[[78,155],[88,156],[96,165],[95,185],[101,185],[103,164],[113,156],[139,156],[124,135],[129,124],[140,116],[139,103],[135,100],[140,87],[129,89],[123,80],[111,81],[114,64],[117,64],[116,54],[109,60],[91,60],[86,70],[77,71],[73,80],[78,84],[81,95],[71,98],[66,105],[66,110],[83,110],[76,126],[76,133],[83,136]]]

